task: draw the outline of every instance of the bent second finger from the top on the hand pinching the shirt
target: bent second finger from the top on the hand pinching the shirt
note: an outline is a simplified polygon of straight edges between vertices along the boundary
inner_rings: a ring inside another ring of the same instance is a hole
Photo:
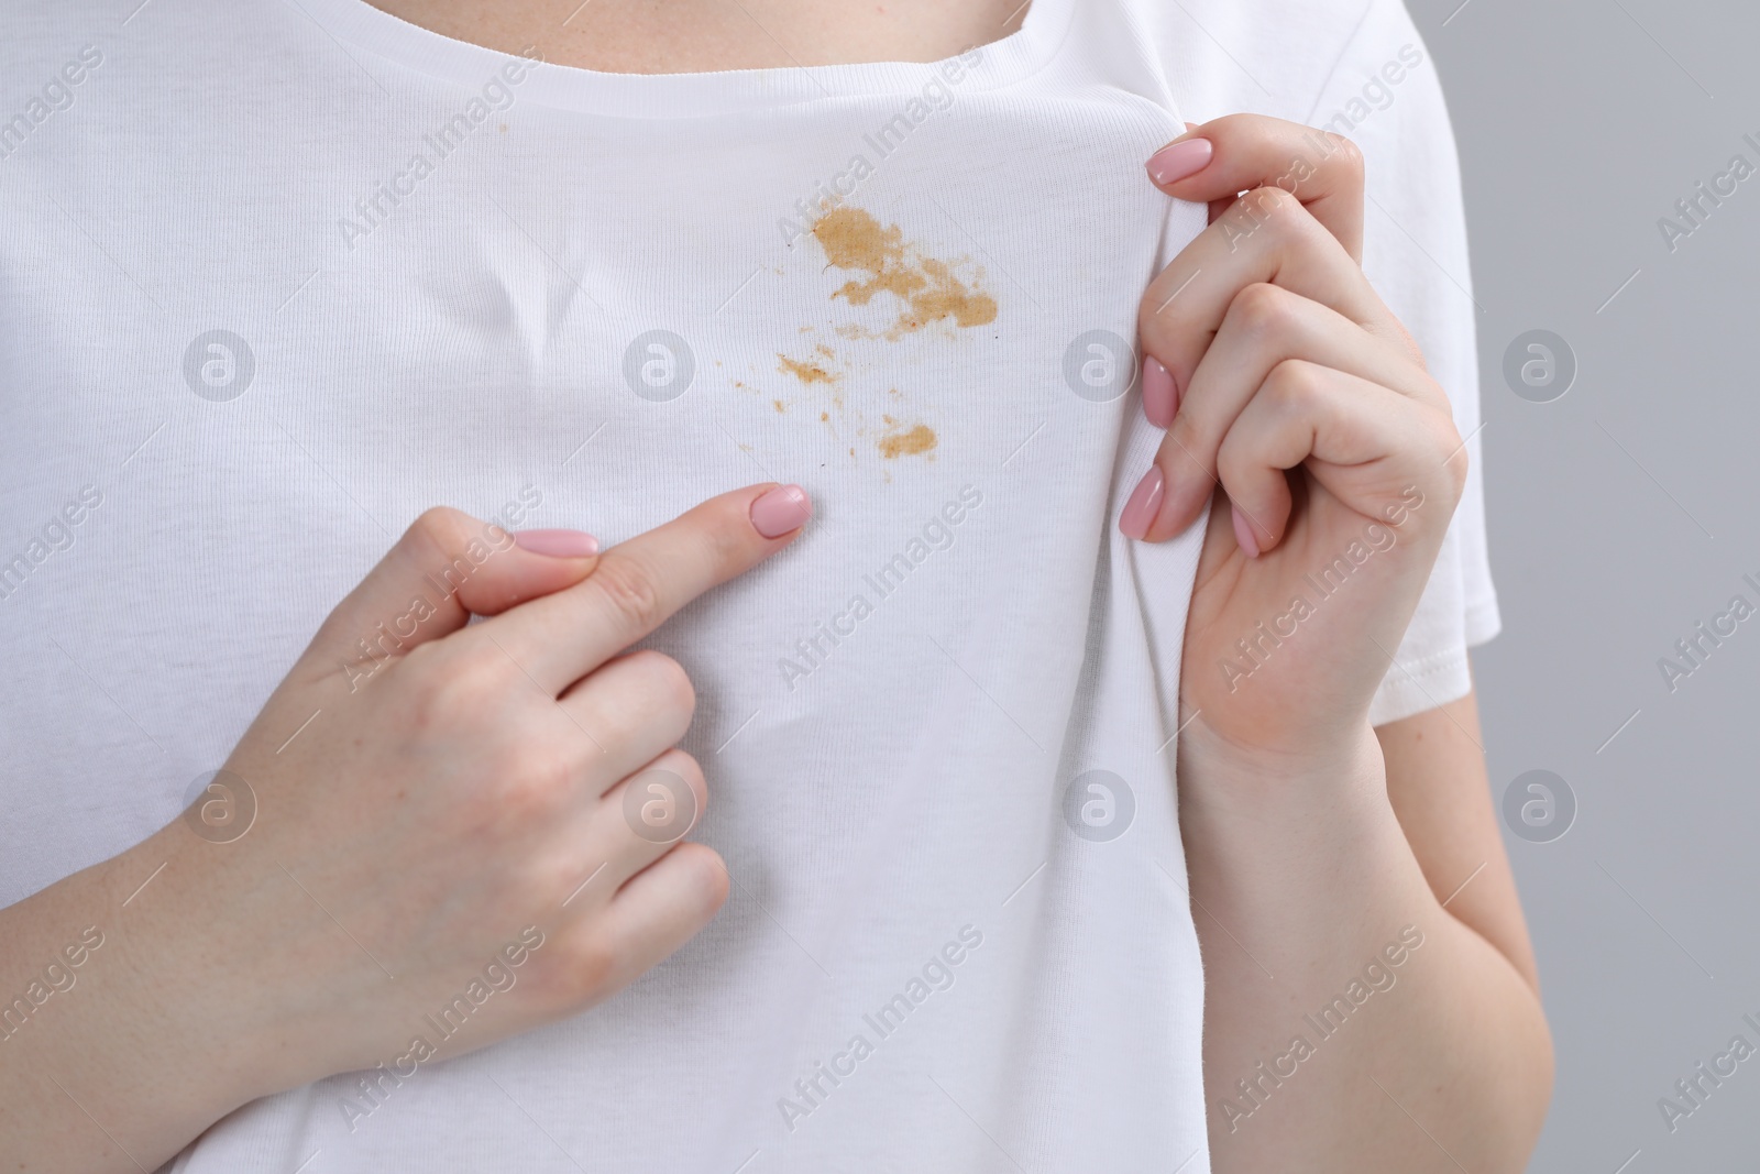
[[[1412,350],[1404,327],[1339,243],[1294,195],[1257,188],[1199,232],[1149,282],[1137,308],[1144,352],[1170,378],[1174,398],[1192,385],[1192,375],[1234,299],[1260,283],[1280,285],[1329,306],[1376,338]],[[1165,426],[1172,403],[1165,393],[1153,396],[1149,391],[1146,380],[1144,412],[1151,422]]]

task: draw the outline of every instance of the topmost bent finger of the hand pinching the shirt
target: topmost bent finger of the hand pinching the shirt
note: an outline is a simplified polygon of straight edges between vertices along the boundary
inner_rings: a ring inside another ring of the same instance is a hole
[[[1345,136],[1264,114],[1227,114],[1149,157],[1149,180],[1177,199],[1234,202],[1276,187],[1299,199],[1353,260],[1362,260],[1362,151]]]

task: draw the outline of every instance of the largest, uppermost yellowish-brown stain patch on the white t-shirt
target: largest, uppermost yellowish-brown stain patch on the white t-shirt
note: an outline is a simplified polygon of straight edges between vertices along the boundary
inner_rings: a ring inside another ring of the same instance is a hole
[[[875,294],[892,294],[905,303],[887,338],[899,338],[945,319],[957,326],[987,326],[996,320],[994,297],[980,289],[968,289],[945,260],[919,255],[896,224],[882,227],[861,208],[834,208],[813,224],[813,238],[832,266],[866,275],[845,282],[832,297],[866,306]]]

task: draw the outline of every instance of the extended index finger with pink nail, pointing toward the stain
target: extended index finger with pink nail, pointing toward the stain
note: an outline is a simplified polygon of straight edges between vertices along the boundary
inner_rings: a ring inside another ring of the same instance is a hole
[[[799,486],[723,493],[611,547],[581,584],[479,628],[540,688],[561,693],[690,600],[788,546],[810,516]]]

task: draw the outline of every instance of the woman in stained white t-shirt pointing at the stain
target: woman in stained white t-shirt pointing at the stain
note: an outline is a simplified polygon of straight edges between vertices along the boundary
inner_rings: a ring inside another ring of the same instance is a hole
[[[382,7],[9,18],[7,1156],[1521,1169],[1404,11]]]

